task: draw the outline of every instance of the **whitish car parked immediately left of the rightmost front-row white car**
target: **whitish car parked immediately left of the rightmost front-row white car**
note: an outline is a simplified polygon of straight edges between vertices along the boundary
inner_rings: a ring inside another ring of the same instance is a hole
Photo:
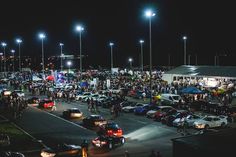
[[[199,115],[188,115],[187,117],[183,117],[183,118],[176,118],[174,121],[173,121],[173,126],[180,126],[183,124],[184,120],[186,121],[187,123],[187,126],[188,127],[192,127],[193,126],[193,123],[202,119],[202,116],[199,116]]]

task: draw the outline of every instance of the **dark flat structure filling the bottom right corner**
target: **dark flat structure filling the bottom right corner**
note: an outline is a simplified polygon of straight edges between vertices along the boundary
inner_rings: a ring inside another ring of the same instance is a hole
[[[172,139],[173,157],[233,157],[236,129]]]

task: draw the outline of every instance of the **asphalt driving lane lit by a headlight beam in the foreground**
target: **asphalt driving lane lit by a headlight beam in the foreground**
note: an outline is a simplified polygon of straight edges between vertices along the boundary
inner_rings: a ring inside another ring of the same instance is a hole
[[[122,157],[126,150],[131,157],[146,157],[151,153],[151,150],[160,151],[163,157],[171,157],[171,139],[182,136],[177,133],[176,128],[155,122],[145,116],[121,113],[117,118],[112,119],[109,109],[100,107],[100,112],[93,113],[88,111],[86,103],[78,101],[57,101],[57,110],[53,112],[29,107],[22,118],[16,121],[16,124],[49,147],[62,142],[81,144],[84,139],[91,141],[97,136],[96,132],[84,128],[82,119],[66,120],[62,118],[62,112],[65,109],[74,107],[79,108],[84,117],[90,114],[101,114],[107,120],[118,123],[126,138],[126,143],[123,146],[111,151],[97,149],[90,145],[90,157]],[[196,132],[193,129],[188,131],[190,133]],[[37,157],[37,155],[40,156],[35,152],[32,157]]]

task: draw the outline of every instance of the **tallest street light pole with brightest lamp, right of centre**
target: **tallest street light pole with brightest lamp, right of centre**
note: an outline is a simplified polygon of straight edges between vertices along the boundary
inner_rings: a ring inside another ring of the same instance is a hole
[[[150,66],[149,66],[149,73],[150,73],[150,104],[152,103],[152,17],[156,14],[152,10],[147,10],[145,12],[146,17],[149,18],[149,51],[150,51]]]

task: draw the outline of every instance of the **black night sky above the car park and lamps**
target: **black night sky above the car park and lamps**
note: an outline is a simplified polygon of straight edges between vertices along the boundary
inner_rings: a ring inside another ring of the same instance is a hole
[[[52,1],[52,2],[51,2]],[[139,65],[140,44],[144,39],[144,64],[149,63],[149,27],[144,15],[151,6],[153,65],[183,64],[182,36],[188,36],[187,53],[191,64],[236,65],[236,25],[233,1],[215,0],[7,0],[1,1],[0,41],[8,43],[7,53],[15,48],[14,39],[23,39],[22,55],[30,55],[37,64],[41,42],[37,33],[44,31],[45,55],[79,54],[79,34],[75,24],[85,27],[82,33],[84,66],[110,66],[109,42],[114,42],[114,67],[127,66],[128,58]],[[1,49],[2,51],[2,49]],[[36,59],[37,57],[37,59]]]

